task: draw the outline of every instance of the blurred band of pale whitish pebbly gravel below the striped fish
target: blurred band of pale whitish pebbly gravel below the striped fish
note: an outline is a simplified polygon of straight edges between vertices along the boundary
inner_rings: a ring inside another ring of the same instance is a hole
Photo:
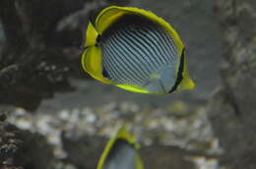
[[[96,108],[63,109],[54,113],[32,114],[22,108],[11,112],[7,121],[22,130],[44,136],[53,145],[56,159],[68,155],[63,149],[63,134],[74,141],[85,135],[109,139],[123,125],[142,147],[158,144],[191,152],[188,160],[198,169],[218,169],[217,158],[206,156],[222,153],[204,105],[174,101],[163,109],[134,102],[110,102]]]

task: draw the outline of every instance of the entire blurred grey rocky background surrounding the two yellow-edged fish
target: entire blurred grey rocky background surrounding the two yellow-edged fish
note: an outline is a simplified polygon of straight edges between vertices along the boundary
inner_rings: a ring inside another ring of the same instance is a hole
[[[109,5],[171,23],[196,89],[137,94],[86,75],[84,31]],[[95,169],[122,125],[147,169],[255,169],[255,19],[255,0],[0,0],[0,169]]]

